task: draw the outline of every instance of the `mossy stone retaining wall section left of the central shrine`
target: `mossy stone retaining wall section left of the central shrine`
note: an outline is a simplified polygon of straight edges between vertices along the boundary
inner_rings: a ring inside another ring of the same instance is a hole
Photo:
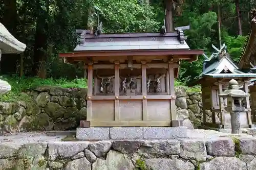
[[[71,130],[86,119],[84,88],[37,87],[28,102],[0,103],[2,131]]]

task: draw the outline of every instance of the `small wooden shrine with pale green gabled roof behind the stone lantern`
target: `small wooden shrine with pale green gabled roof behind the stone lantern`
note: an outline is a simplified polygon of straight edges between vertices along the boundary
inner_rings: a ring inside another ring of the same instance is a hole
[[[202,128],[230,129],[231,118],[230,113],[227,111],[227,100],[219,94],[222,94],[228,88],[228,82],[231,79],[236,80],[240,88],[248,93],[248,81],[256,78],[256,74],[241,71],[227,54],[225,44],[220,49],[214,45],[212,47],[217,53],[213,53],[210,57],[204,54],[203,71],[197,81],[193,83],[193,85],[201,84]],[[249,97],[245,98],[243,105],[245,110],[240,114],[242,128],[251,128],[253,125]],[[207,119],[206,115],[210,116],[210,118]]]

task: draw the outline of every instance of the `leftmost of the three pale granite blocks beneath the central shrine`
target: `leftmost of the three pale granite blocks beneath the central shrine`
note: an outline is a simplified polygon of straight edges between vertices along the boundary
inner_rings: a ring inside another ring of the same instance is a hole
[[[79,140],[109,140],[110,128],[77,128],[76,138]]]

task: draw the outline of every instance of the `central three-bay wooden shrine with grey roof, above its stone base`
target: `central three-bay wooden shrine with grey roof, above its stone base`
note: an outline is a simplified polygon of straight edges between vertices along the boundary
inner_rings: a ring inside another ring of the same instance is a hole
[[[81,127],[169,127],[176,119],[174,81],[180,60],[196,61],[183,31],[90,34],[78,31],[66,63],[83,62],[88,74],[87,120]]]

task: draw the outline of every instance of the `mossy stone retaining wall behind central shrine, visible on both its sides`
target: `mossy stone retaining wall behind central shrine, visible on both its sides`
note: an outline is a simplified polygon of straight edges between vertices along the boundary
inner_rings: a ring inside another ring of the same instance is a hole
[[[86,120],[87,89],[42,86],[28,94],[33,101],[0,103],[0,125],[5,132],[75,130],[80,120]],[[201,94],[180,87],[176,96],[177,118],[186,127],[197,128],[202,122]]]

